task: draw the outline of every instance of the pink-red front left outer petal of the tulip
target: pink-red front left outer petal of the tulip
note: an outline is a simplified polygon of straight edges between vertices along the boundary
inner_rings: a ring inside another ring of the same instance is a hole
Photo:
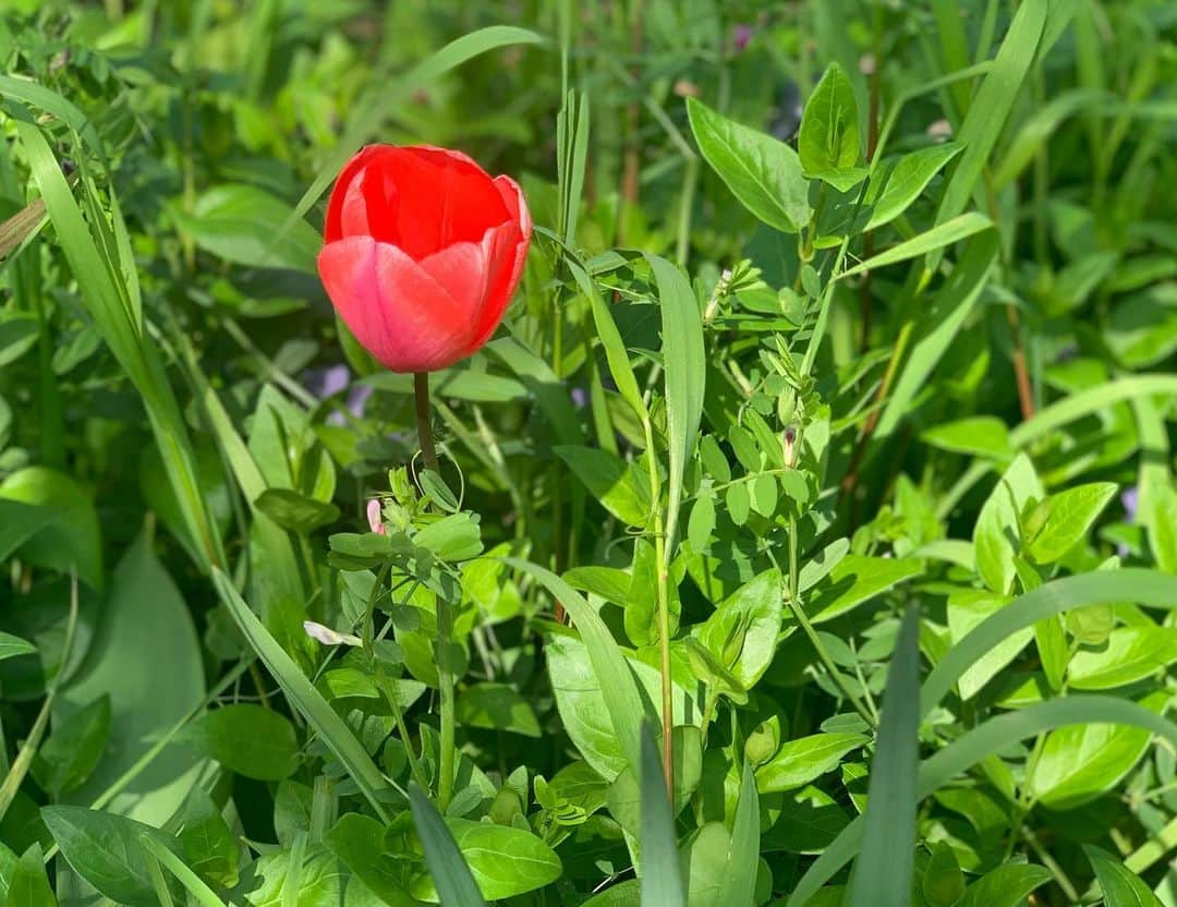
[[[327,296],[355,339],[387,369],[435,371],[466,355],[470,312],[401,250],[348,237],[319,253]]]

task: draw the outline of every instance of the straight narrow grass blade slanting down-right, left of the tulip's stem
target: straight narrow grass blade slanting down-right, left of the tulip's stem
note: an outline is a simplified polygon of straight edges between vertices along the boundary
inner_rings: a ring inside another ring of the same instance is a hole
[[[387,788],[388,782],[372,762],[367,750],[355,739],[344,720],[331,708],[322,694],[299,670],[290,655],[274,641],[261,621],[250,610],[250,605],[233,588],[232,581],[220,570],[213,570],[213,584],[217,587],[221,602],[228,608],[237,625],[245,634],[251,648],[258,653],[258,657],[274,675],[291,704],[301,713],[302,717],[322,739],[322,742],[327,744],[327,748],[344,764],[375,814],[387,821],[388,814],[385,810],[380,792]]]

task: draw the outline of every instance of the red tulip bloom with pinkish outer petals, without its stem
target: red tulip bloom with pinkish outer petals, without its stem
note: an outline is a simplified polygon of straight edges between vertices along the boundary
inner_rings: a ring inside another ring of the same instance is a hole
[[[531,214],[510,177],[457,151],[368,145],[335,180],[319,277],[364,347],[398,372],[485,344],[511,302]]]

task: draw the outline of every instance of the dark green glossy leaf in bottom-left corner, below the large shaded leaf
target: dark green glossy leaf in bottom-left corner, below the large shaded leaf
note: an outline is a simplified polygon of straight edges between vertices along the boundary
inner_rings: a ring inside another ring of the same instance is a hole
[[[133,907],[157,907],[140,838],[147,836],[180,855],[172,835],[122,816],[74,806],[41,809],[49,834],[78,875],[101,894]]]

